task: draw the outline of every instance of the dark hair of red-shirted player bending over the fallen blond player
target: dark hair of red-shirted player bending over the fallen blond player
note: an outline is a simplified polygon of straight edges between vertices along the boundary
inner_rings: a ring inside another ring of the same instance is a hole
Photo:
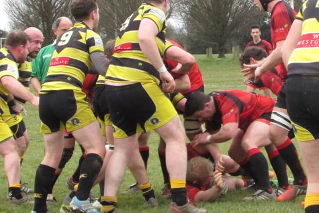
[[[185,103],[185,117],[193,115],[196,111],[204,109],[205,103],[209,102],[211,96],[203,92],[194,91],[189,93]]]

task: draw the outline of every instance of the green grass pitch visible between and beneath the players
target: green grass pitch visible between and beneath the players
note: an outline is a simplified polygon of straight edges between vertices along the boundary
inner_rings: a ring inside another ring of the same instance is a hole
[[[207,60],[205,55],[196,55],[197,62],[203,74],[206,93],[219,89],[245,89],[242,83],[242,75],[239,72],[240,67],[236,59],[227,55],[225,59]],[[25,153],[22,165],[21,179],[22,183],[28,183],[29,187],[33,188],[34,175],[37,166],[43,158],[44,145],[42,135],[39,134],[40,122],[38,112],[32,108],[30,104],[26,104],[27,116],[24,116],[28,133],[30,136],[30,145]],[[162,175],[160,171],[160,161],[158,159],[157,146],[159,137],[156,133],[152,133],[150,138],[150,159],[148,166],[148,174],[150,181],[155,189],[159,207],[150,209],[144,205],[144,199],[141,193],[131,196],[122,196],[120,193],[125,191],[127,187],[135,183],[130,172],[127,172],[124,183],[119,190],[118,208],[119,213],[167,213],[169,201],[161,198]],[[295,143],[296,144],[296,143]],[[227,154],[227,149],[230,143],[221,144],[221,150]],[[75,170],[78,159],[80,157],[80,149],[76,146],[76,150],[72,159],[66,165],[60,178],[54,187],[54,196],[58,203],[48,206],[50,213],[58,213],[62,204],[63,198],[69,193],[66,187],[67,178]],[[289,171],[289,176],[291,173]],[[96,196],[99,196],[98,187],[93,189]],[[7,182],[3,170],[3,159],[0,159],[0,213],[30,213],[32,205],[11,206],[5,200],[7,194]],[[304,199],[303,196],[298,197],[295,201],[287,203],[272,202],[256,202],[245,203],[243,197],[250,194],[245,191],[229,192],[223,198],[214,203],[198,203],[198,206],[206,208],[209,213],[302,213],[303,208],[299,203]]]

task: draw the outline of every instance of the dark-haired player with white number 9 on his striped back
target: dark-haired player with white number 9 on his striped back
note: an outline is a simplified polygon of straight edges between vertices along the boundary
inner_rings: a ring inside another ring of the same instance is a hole
[[[87,153],[70,208],[72,211],[97,213],[90,204],[89,192],[103,163],[104,140],[81,89],[91,66],[98,73],[105,74],[108,61],[104,57],[102,39],[95,32],[99,22],[97,1],[72,0],[71,13],[76,23],[57,40],[39,95],[40,131],[44,134],[46,152],[36,171],[32,213],[47,212],[45,201],[61,160],[64,128],[72,132]]]

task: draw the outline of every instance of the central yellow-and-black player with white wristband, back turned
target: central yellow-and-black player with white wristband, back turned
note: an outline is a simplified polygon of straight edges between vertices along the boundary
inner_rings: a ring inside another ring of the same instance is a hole
[[[142,161],[138,136],[152,130],[166,143],[170,209],[181,213],[206,212],[187,203],[185,133],[176,110],[158,86],[161,80],[164,91],[172,92],[175,88],[173,77],[162,62],[167,8],[168,0],[145,0],[122,24],[116,39],[105,88],[115,150],[106,169],[102,213],[116,212],[116,195],[128,162],[135,159],[140,165]],[[139,169],[145,172],[144,166]],[[148,180],[144,183],[140,188],[146,193],[152,187]]]

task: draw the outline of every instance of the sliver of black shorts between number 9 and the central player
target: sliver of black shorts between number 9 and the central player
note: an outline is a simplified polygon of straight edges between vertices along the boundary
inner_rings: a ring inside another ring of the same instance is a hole
[[[93,108],[96,115],[104,122],[104,116],[109,114],[109,108],[104,94],[105,85],[98,84],[94,87]]]

